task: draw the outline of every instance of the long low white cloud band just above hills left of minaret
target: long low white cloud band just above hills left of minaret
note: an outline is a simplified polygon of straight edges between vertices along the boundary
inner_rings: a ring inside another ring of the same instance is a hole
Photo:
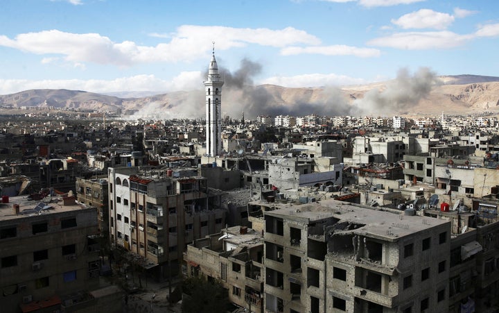
[[[43,80],[30,81],[24,79],[0,79],[0,94],[13,94],[30,89],[68,89],[85,90],[87,92],[141,92],[158,91],[171,92],[175,90],[200,89],[202,73],[200,71],[186,71],[180,73],[171,81],[166,81],[154,75],[137,75],[105,81],[91,79],[88,81],[72,80]]]

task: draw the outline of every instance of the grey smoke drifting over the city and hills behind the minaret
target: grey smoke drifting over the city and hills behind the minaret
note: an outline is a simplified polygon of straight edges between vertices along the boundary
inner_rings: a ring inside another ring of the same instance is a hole
[[[305,116],[310,114],[337,115],[389,115],[403,112],[417,105],[439,83],[437,76],[428,68],[419,69],[413,76],[408,69],[401,69],[393,81],[389,81],[383,90],[373,89],[361,99],[353,102],[347,99],[339,87],[325,86],[320,91],[313,88],[296,88],[290,96],[279,91],[278,86],[266,88],[254,85],[254,77],[262,71],[262,65],[252,60],[243,59],[234,72],[219,67],[224,80],[222,88],[222,114],[239,118],[244,111],[245,117],[256,118],[259,115]],[[203,77],[207,77],[207,70]],[[200,85],[202,83],[200,82]],[[288,88],[290,90],[290,88]],[[204,117],[204,90],[174,93],[168,95],[170,103],[166,110],[159,110],[157,103],[145,105],[141,112],[152,113],[159,118],[197,118]]]

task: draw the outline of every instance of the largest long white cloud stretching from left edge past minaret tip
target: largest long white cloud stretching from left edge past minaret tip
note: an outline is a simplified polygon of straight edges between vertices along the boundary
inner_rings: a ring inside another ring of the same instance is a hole
[[[57,54],[71,62],[94,62],[130,66],[142,62],[179,62],[206,58],[213,38],[216,49],[225,50],[247,44],[283,47],[290,44],[320,44],[320,40],[305,31],[288,27],[231,28],[223,26],[184,25],[171,35],[170,42],[156,46],[139,46],[134,42],[112,42],[96,33],[65,33],[58,30],[19,34],[15,39],[0,35],[0,46],[35,54]]]

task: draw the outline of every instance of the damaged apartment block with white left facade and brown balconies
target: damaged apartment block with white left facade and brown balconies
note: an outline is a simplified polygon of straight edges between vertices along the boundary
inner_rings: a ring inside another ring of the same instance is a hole
[[[220,232],[227,212],[196,169],[108,169],[110,241],[139,266],[175,275],[186,245]]]

